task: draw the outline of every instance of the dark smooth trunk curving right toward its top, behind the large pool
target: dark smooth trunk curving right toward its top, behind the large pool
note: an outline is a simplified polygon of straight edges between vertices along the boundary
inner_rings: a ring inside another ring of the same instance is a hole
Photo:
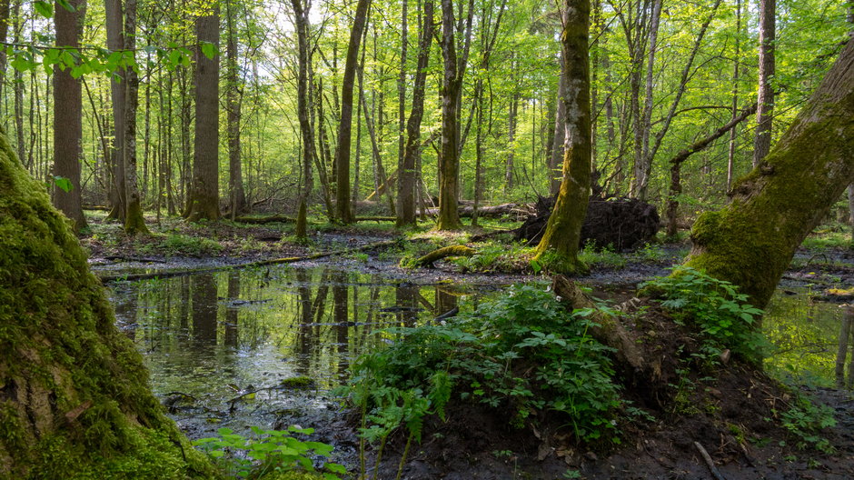
[[[359,0],[350,30],[350,44],[347,46],[347,59],[344,62],[343,85],[341,89],[341,123],[338,124],[338,150],[335,153],[335,209],[338,219],[344,224],[353,223],[353,206],[350,204],[350,144],[353,128],[353,80],[356,76],[356,64],[359,59],[359,43],[368,16],[371,0]]]

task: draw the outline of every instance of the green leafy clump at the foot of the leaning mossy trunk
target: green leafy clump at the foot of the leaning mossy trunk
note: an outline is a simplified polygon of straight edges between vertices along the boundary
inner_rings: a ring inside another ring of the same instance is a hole
[[[736,285],[718,280],[686,266],[673,274],[640,285],[660,297],[673,320],[680,325],[696,325],[710,355],[729,348],[744,360],[759,365],[770,354],[770,343],[755,327],[762,310],[747,303],[748,295]]]

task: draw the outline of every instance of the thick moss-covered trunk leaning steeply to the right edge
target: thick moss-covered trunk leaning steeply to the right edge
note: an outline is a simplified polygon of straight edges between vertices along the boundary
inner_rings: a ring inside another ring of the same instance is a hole
[[[768,304],[803,239],[854,180],[854,42],[770,154],[734,186],[730,204],[701,215],[687,265]]]

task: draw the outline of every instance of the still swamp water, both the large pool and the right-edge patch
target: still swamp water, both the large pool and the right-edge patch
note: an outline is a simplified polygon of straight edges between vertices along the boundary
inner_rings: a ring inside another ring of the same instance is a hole
[[[253,425],[328,424],[337,408],[329,391],[346,381],[350,362],[393,341],[382,329],[423,325],[501,288],[279,265],[117,283],[111,299],[155,395],[199,438],[223,426],[245,433]],[[850,307],[779,290],[763,319],[778,348],[769,370],[795,383],[851,388],[852,319]]]

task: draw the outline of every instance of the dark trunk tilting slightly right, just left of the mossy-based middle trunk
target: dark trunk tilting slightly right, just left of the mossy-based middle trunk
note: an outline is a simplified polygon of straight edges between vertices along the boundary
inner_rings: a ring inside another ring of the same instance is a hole
[[[430,47],[435,34],[432,0],[425,0],[422,14],[421,43],[418,47],[418,67],[415,84],[412,86],[412,110],[406,124],[406,145],[403,162],[398,170],[397,182],[397,225],[415,224],[415,185],[417,182],[416,159],[421,150],[421,121],[424,115],[424,90],[427,85],[427,65],[430,62]]]

